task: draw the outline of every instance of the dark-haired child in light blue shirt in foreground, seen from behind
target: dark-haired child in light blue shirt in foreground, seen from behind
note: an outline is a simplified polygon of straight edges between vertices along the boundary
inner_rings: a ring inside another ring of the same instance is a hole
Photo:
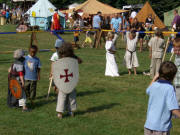
[[[172,62],[163,62],[147,88],[149,95],[144,135],[170,135],[172,114],[180,117],[179,105],[172,81],[177,68]]]

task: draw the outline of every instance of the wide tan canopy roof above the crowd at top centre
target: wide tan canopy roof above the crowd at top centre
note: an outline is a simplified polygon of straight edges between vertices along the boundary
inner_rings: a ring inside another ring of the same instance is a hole
[[[77,6],[74,9],[63,10],[63,13],[72,13],[73,10],[82,10],[84,14],[97,14],[98,11],[101,11],[103,15],[115,14],[126,12],[127,10],[121,10],[117,8],[113,8],[107,4],[99,2],[97,0],[87,0],[81,5]]]

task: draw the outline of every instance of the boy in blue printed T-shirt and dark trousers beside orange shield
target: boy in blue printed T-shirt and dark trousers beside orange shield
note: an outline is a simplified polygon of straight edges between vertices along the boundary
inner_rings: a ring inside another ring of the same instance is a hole
[[[36,57],[38,51],[37,46],[32,45],[29,49],[29,55],[25,57],[25,92],[28,99],[31,101],[36,97],[37,81],[40,80],[41,62]]]

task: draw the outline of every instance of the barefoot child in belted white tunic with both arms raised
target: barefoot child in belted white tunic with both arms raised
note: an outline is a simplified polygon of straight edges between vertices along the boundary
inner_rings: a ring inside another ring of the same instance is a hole
[[[132,68],[134,68],[134,75],[136,75],[136,68],[139,66],[138,58],[136,55],[136,44],[138,42],[138,35],[138,32],[126,32],[127,46],[124,59],[129,75],[131,74]]]

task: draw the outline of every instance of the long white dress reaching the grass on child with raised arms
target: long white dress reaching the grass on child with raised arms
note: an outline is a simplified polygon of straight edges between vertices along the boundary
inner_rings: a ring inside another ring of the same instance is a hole
[[[119,76],[118,73],[118,66],[116,64],[115,56],[114,54],[110,53],[110,49],[115,51],[115,47],[113,45],[112,41],[106,41],[106,70],[105,70],[105,76],[111,76],[111,77],[117,77]]]

